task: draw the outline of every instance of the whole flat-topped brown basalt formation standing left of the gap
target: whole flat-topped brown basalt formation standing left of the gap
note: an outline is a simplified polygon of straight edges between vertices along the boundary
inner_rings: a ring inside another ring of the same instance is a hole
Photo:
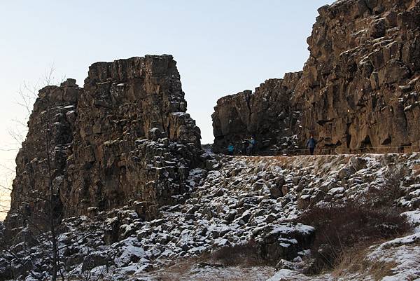
[[[50,201],[60,219],[123,205],[151,218],[183,200],[188,172],[203,160],[186,108],[171,55],[97,62],[84,88],[69,79],[40,90],[6,228],[45,227]]]

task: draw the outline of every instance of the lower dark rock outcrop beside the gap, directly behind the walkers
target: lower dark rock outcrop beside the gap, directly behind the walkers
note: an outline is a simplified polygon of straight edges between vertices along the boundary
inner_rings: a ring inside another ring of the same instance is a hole
[[[268,79],[255,92],[245,90],[217,101],[214,107],[214,151],[225,153],[229,143],[240,149],[244,139],[255,137],[259,153],[275,153],[297,144],[300,111],[291,97],[302,72],[283,79]]]

